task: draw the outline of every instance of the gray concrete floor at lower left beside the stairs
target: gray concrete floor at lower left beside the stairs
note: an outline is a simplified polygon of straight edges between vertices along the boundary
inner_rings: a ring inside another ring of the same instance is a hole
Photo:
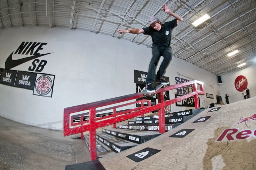
[[[1,170],[64,170],[86,161],[90,152],[83,140],[0,117]]]

